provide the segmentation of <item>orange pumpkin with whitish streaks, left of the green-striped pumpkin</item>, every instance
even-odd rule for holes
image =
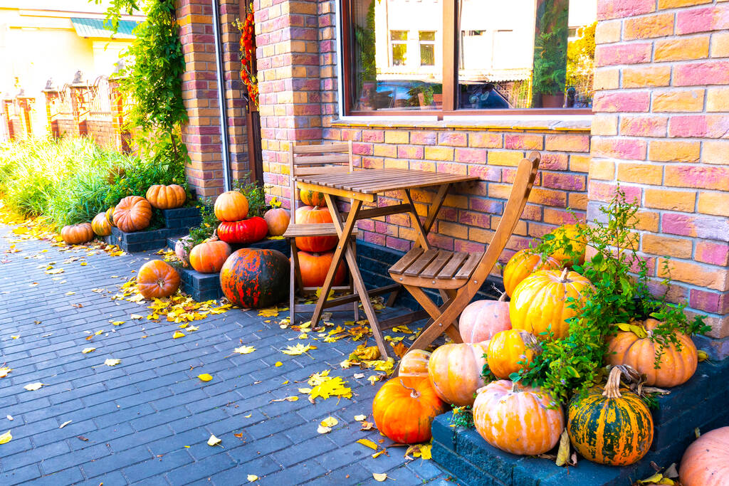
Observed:
[[[473,423],[480,436],[498,449],[518,455],[539,455],[559,441],[564,412],[539,388],[499,380],[478,391]]]

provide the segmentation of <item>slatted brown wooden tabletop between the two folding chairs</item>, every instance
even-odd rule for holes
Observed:
[[[332,187],[333,189],[343,191],[361,192],[362,194],[378,194],[381,192],[397,191],[398,189],[439,186],[456,182],[475,181],[477,179],[477,176],[413,171],[410,169],[365,169],[364,171],[299,176],[295,178],[296,181],[305,184]]]

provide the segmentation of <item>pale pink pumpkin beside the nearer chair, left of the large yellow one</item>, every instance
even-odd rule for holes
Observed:
[[[458,323],[463,342],[488,341],[497,332],[511,329],[505,298],[502,294],[499,300],[477,300],[466,306]]]

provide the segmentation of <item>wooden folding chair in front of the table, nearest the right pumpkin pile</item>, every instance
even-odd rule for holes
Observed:
[[[504,251],[524,211],[538,168],[539,152],[531,152],[528,158],[519,162],[509,201],[486,252],[469,254],[416,246],[390,267],[392,279],[402,283],[431,316],[429,326],[410,349],[425,349],[444,332],[454,342],[463,342],[456,319],[486,281]],[[438,307],[425,294],[424,288],[438,289],[444,296],[443,305]]]

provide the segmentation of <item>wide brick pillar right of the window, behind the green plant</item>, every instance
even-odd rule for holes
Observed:
[[[729,2],[712,3],[599,0],[588,219],[617,183],[636,197],[653,280],[671,256],[670,298],[728,356]]]

